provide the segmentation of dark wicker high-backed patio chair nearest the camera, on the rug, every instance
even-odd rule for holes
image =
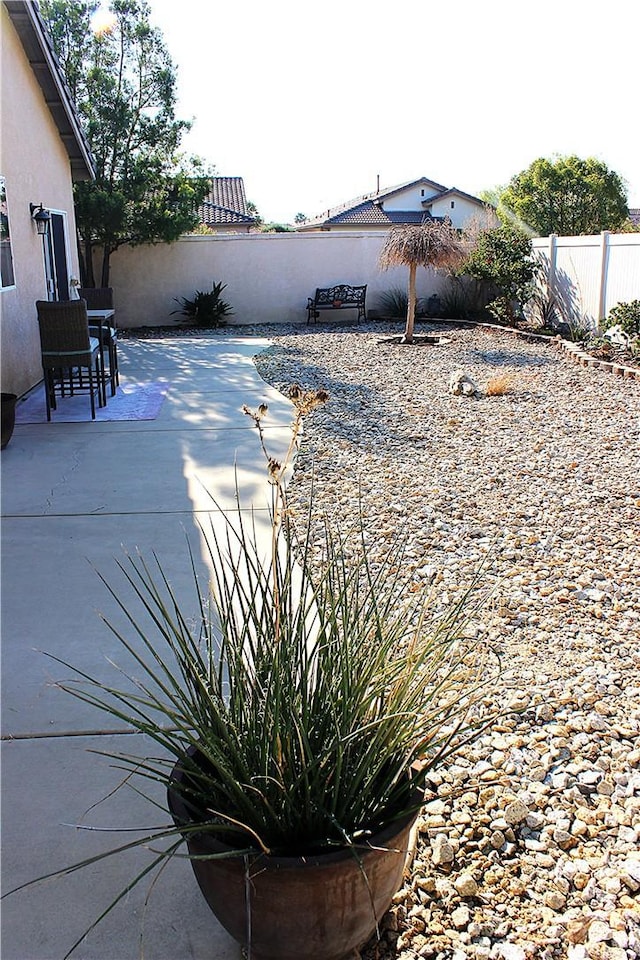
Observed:
[[[98,405],[107,402],[102,350],[96,337],[89,336],[87,304],[84,300],[37,300],[38,325],[47,420],[57,409],[56,391],[64,397],[69,392],[89,393],[91,419],[96,418]],[[86,371],[86,373],[85,373]]]

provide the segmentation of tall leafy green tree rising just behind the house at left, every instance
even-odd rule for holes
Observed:
[[[207,192],[202,161],[180,153],[190,124],[175,116],[175,68],[146,0],[112,0],[111,23],[92,29],[95,0],[42,0],[48,25],[96,162],[75,186],[83,283],[100,284],[123,244],[170,243],[197,223]]]

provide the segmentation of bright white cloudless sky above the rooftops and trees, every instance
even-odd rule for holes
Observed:
[[[427,177],[473,195],[594,156],[640,207],[630,0],[150,0],[183,148],[291,223]]]

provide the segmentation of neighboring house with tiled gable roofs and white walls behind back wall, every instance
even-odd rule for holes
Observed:
[[[365,230],[380,231],[402,224],[419,224],[425,220],[448,218],[454,227],[463,227],[474,217],[490,225],[498,220],[491,206],[457,187],[421,177],[386,190],[365,194],[327,210],[318,217],[298,224],[297,230]]]

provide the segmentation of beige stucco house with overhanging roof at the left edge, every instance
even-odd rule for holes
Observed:
[[[2,390],[21,395],[42,379],[35,302],[79,275],[73,181],[94,168],[37,5],[2,0],[0,35]]]

